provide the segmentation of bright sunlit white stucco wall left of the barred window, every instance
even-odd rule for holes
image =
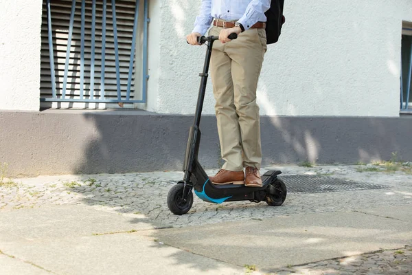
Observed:
[[[0,110],[40,107],[42,0],[0,0]]]

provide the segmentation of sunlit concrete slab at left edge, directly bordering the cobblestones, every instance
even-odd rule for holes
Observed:
[[[91,236],[93,233],[159,227],[162,227],[161,223],[150,221],[142,214],[115,214],[87,206],[49,206],[0,212],[0,242]]]

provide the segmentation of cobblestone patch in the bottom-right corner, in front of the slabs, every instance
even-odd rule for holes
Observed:
[[[321,261],[295,267],[286,267],[267,274],[412,274],[412,245],[399,250],[379,251],[343,259]]]

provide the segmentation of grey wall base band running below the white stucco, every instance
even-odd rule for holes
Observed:
[[[146,111],[0,111],[9,176],[181,170],[192,116]],[[412,159],[411,116],[261,118],[263,165]],[[216,118],[201,121],[199,159],[222,165]]]

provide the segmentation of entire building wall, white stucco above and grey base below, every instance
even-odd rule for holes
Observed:
[[[39,112],[42,0],[0,0],[0,162],[9,175],[181,169],[205,54],[185,35],[200,3],[150,0],[148,102],[136,106],[157,113]],[[411,159],[412,117],[398,116],[412,2],[287,0],[285,14],[258,88],[263,164]],[[210,84],[200,160],[218,168]]]

